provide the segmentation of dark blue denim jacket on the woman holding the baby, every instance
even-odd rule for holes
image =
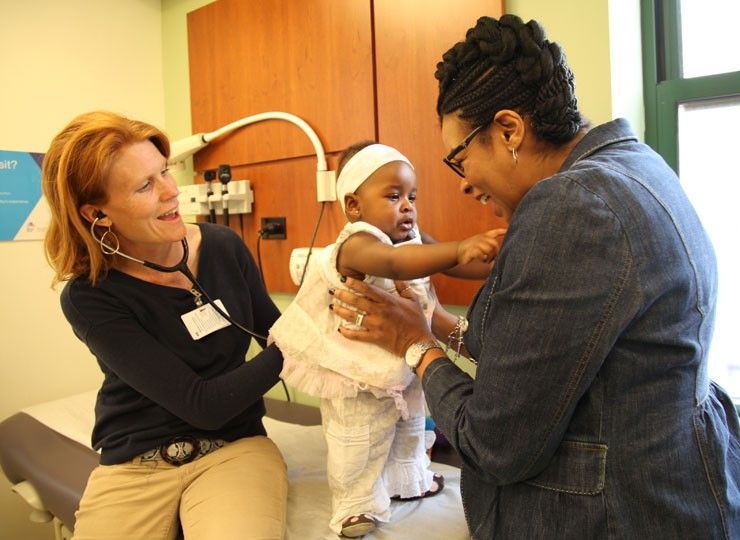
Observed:
[[[740,538],[716,289],[678,178],[624,120],[527,193],[468,314],[475,380],[446,359],[424,374],[474,539]]]

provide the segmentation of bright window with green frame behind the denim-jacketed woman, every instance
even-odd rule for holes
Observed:
[[[643,0],[645,140],[679,173],[717,254],[709,375],[740,400],[737,0]]]

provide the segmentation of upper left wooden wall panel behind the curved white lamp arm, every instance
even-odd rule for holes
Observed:
[[[371,28],[370,0],[219,0],[189,13],[193,131],[284,111],[308,122],[328,152],[373,138]],[[299,128],[265,121],[199,152],[195,168],[312,154]],[[310,178],[296,181],[315,190]]]

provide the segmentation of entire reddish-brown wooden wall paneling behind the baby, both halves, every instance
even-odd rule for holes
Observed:
[[[295,114],[316,131],[330,168],[350,144],[372,139],[414,163],[419,224],[439,240],[501,226],[462,196],[444,155],[435,112],[436,63],[480,15],[500,16],[503,1],[219,0],[188,14],[193,131],[212,131],[266,111]],[[249,179],[253,213],[232,226],[257,255],[260,218],[285,216],[287,238],[263,240],[271,292],[295,292],[288,260],[307,246],[320,211],[316,158],[305,134],[282,121],[242,128],[199,152],[197,171],[221,163]],[[202,178],[199,179],[202,181]],[[316,245],[345,223],[327,203]],[[480,282],[435,277],[445,303],[468,304]]]

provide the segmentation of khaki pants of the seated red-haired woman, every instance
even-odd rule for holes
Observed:
[[[76,514],[75,540],[283,538],[285,462],[266,437],[228,443],[176,467],[139,458],[93,470]]]

